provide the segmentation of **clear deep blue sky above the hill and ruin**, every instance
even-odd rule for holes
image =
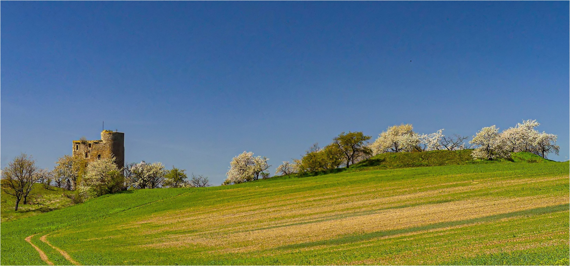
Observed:
[[[127,162],[225,178],[343,131],[538,119],[569,156],[568,1],[1,2],[1,164],[125,132]],[[272,171],[273,172],[273,171]]]

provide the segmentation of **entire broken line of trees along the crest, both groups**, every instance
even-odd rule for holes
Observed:
[[[508,159],[512,152],[531,152],[547,158],[550,153],[559,154],[556,145],[557,136],[539,132],[535,128],[540,124],[536,120],[523,120],[515,127],[507,128],[499,133],[496,126],[482,128],[466,144],[467,136],[443,135],[443,129],[431,134],[418,134],[413,131],[412,124],[401,124],[388,127],[378,134],[374,142],[371,136],[363,132],[342,132],[324,147],[313,144],[300,159],[285,161],[275,171],[275,175],[308,174],[353,164],[386,152],[425,152],[435,150],[464,150],[473,148],[471,155],[477,160]],[[253,152],[244,151],[230,162],[226,180],[222,183],[239,184],[270,177],[264,156],[254,156]],[[16,198],[15,209],[22,201],[27,204],[34,184],[42,183],[48,188],[51,185],[75,191],[73,200],[81,202],[97,196],[112,194],[124,190],[166,187],[207,187],[207,177],[192,174],[190,178],[186,170],[172,167],[166,170],[164,164],[128,163],[117,167],[115,158],[101,159],[87,163],[83,158],[64,155],[58,159],[53,170],[40,169],[35,166],[31,156],[21,154],[8,163],[1,172],[1,187],[6,194]]]

